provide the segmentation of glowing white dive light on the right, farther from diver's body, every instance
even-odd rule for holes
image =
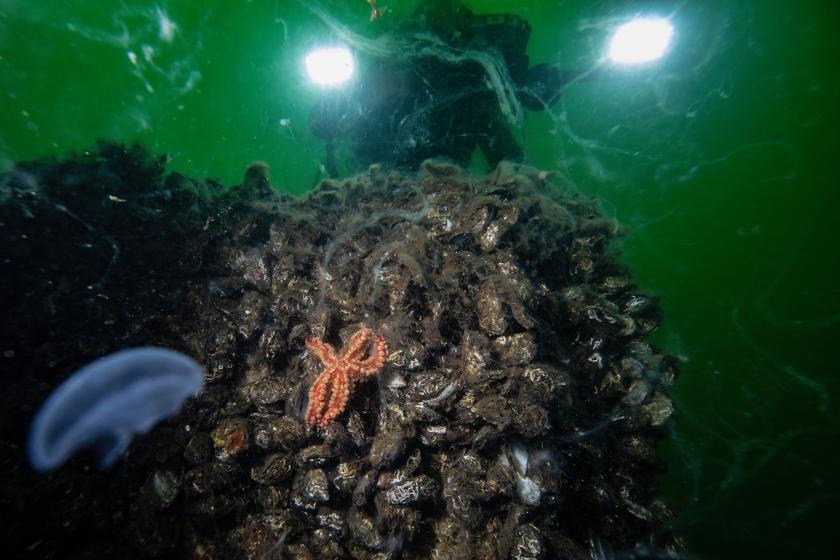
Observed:
[[[665,54],[673,33],[667,19],[632,19],[615,30],[607,55],[619,64],[650,62]]]

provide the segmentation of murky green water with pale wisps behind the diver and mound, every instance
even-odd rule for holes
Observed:
[[[363,35],[413,2],[323,4]],[[533,27],[531,63],[599,64],[614,26],[670,15],[653,65],[571,86],[529,113],[528,160],[599,196],[662,296],[660,345],[682,360],[663,493],[700,558],[828,555],[840,505],[835,160],[840,5],[478,1]],[[335,42],[306,4],[0,0],[0,168],[98,138],[168,153],[171,170],[238,182],[263,160],[307,191],[323,146],[303,57]],[[483,171],[480,158],[475,170]]]

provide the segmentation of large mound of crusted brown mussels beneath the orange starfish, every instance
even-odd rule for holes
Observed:
[[[96,165],[121,173],[109,161]],[[108,277],[90,288],[104,296],[90,299],[110,328],[96,346],[95,329],[79,327],[84,350],[166,345],[208,376],[114,471],[79,459],[54,475],[53,497],[77,506],[56,481],[85,477],[76,486],[90,500],[112,498],[110,516],[87,523],[120,529],[140,555],[677,555],[656,496],[676,370],[646,341],[655,298],[610,253],[615,223],[549,179],[427,162],[414,176],[374,167],[324,181],[296,200],[273,194],[259,165],[230,192],[158,170],[144,196],[166,192],[179,210],[138,204],[125,235],[56,210],[52,193],[67,227],[106,240],[96,262]],[[138,239],[156,220],[172,256],[144,280],[136,260],[123,270],[111,252],[149,252]],[[307,429],[322,365],[306,337],[340,348],[362,326],[387,340],[387,365],[334,422]],[[105,490],[96,477],[109,478]],[[76,506],[65,513],[83,517]]]

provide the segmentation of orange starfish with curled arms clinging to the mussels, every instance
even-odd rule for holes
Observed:
[[[370,356],[362,359],[371,340]],[[309,390],[306,425],[324,428],[344,412],[356,382],[382,369],[388,359],[388,343],[379,335],[374,338],[373,331],[364,327],[350,337],[341,354],[336,354],[330,344],[311,336],[306,337],[306,345],[324,364],[324,371]]]

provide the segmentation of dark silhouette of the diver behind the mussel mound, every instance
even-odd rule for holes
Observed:
[[[325,167],[333,177],[344,143],[352,155],[343,163],[351,171],[374,163],[413,171],[429,158],[466,167],[476,147],[491,166],[521,161],[511,130],[521,125],[521,107],[550,107],[584,74],[549,64],[530,67],[527,21],[474,14],[460,2],[423,2],[407,26],[390,33],[400,38],[387,43],[393,56],[364,60],[353,87],[324,92],[310,113],[310,129],[326,143]],[[507,105],[505,91],[515,97]]]

